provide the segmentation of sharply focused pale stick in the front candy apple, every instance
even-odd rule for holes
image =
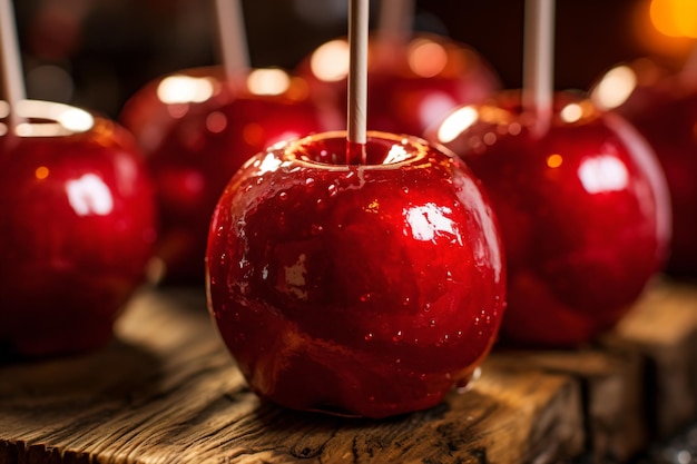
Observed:
[[[348,11],[348,134],[350,142],[366,141],[369,0],[351,0]]]

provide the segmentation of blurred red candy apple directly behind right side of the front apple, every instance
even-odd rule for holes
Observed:
[[[428,131],[471,167],[501,221],[502,342],[576,346],[610,328],[666,258],[670,205],[648,144],[617,115],[556,96],[536,131],[519,92],[464,106]]]

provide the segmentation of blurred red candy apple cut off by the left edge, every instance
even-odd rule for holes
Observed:
[[[75,107],[20,101],[0,125],[0,345],[20,356],[97,348],[144,283],[153,185],[130,134]]]

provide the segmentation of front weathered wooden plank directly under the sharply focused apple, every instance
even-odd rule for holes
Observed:
[[[579,384],[489,359],[464,394],[386,421],[252,394],[200,294],[134,298],[106,349],[0,366],[0,464],[552,463],[582,452]]]

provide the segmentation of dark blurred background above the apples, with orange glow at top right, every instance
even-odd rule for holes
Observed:
[[[422,0],[414,28],[470,45],[505,87],[517,88],[523,4]],[[243,7],[255,67],[293,68],[318,45],[346,34],[346,0],[243,0]],[[210,0],[14,0],[14,8],[29,98],[116,117],[148,80],[217,60]],[[608,68],[644,56],[679,68],[696,24],[695,0],[560,0],[556,87],[588,89]]]

